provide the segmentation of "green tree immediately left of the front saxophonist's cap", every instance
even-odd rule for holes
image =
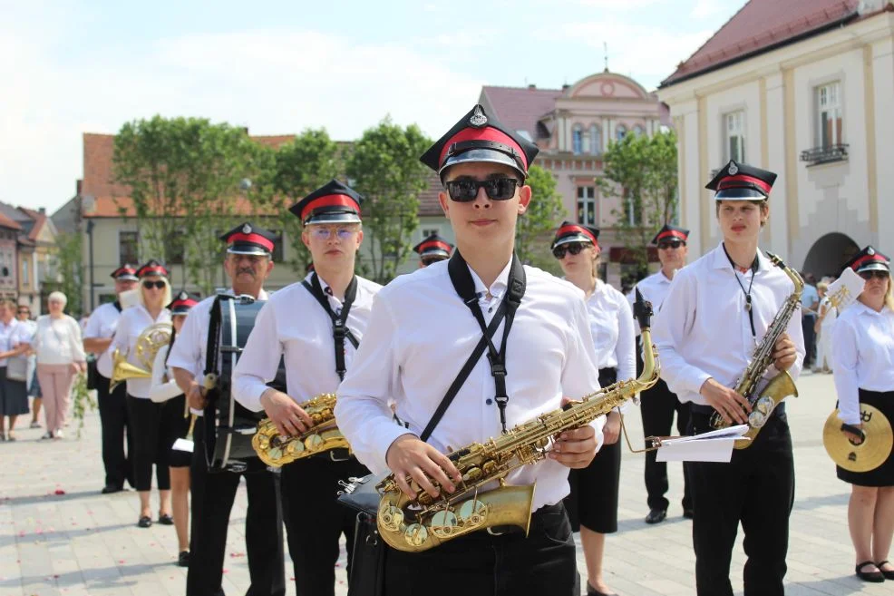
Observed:
[[[401,128],[390,117],[368,129],[345,163],[353,188],[364,195],[365,276],[387,283],[407,259],[419,225],[419,194],[428,177],[419,156],[432,142],[415,124]]]

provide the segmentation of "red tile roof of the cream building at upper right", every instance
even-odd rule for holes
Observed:
[[[791,44],[857,15],[859,0],[750,0],[661,86]]]

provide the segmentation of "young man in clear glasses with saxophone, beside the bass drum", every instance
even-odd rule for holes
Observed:
[[[354,273],[364,239],[362,200],[334,180],[292,207],[304,224],[301,240],[314,270],[277,291],[261,309],[236,366],[233,386],[239,403],[264,410],[280,435],[299,435],[314,424],[299,404],[335,393],[363,340],[381,286]],[[286,360],[286,393],[267,387],[280,357]],[[342,534],[350,568],[355,516],[336,496],[339,481],[364,474],[366,468],[344,449],[282,467],[283,517],[298,594],[332,596]]]

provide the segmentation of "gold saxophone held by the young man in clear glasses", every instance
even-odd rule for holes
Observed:
[[[314,421],[314,425],[301,435],[280,435],[277,425],[269,418],[258,423],[258,432],[251,438],[251,446],[265,464],[278,468],[296,459],[351,448],[335,425],[334,393],[320,394],[299,406]]]

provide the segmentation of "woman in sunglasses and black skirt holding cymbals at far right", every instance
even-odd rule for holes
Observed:
[[[860,405],[873,405],[894,422],[894,297],[890,259],[871,246],[845,266],[866,280],[857,302],[844,311],[832,331],[832,369],[841,421],[858,428]],[[842,430],[850,441],[860,437]],[[836,468],[850,486],[848,527],[863,581],[894,580],[888,561],[894,536],[894,455],[869,472]]]

